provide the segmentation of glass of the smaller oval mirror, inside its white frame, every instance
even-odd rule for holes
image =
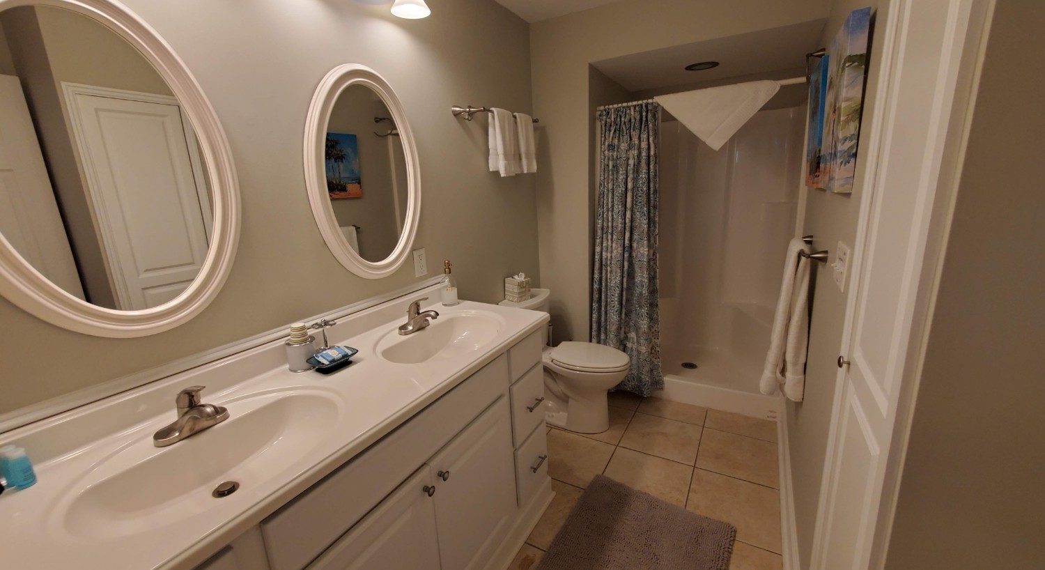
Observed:
[[[362,192],[361,187],[358,198],[351,197],[354,200],[339,200],[340,196],[329,193],[342,233],[352,249],[369,261],[380,261],[392,253],[407,214],[407,161],[402,141],[398,136],[381,136],[396,127],[388,118],[391,115],[376,92],[362,85],[351,85],[338,96],[326,129],[327,189],[331,189],[331,179],[344,181],[346,185],[353,179],[356,183],[361,178],[367,179],[367,191]],[[331,139],[338,140],[346,154],[341,172],[336,169],[339,163],[331,164]],[[356,159],[355,165],[349,164],[349,155]]]

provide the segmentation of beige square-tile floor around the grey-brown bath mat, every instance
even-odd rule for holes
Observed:
[[[609,430],[550,428],[555,499],[509,570],[537,566],[597,474],[737,527],[729,570],[780,570],[776,425],[766,419],[614,392]]]

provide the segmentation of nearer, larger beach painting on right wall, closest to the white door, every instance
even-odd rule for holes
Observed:
[[[853,191],[869,30],[870,8],[853,10],[828,48],[819,181],[833,192]]]

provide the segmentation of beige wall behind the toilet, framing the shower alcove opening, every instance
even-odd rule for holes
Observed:
[[[590,297],[588,64],[823,18],[830,0],[624,0],[533,24],[533,106],[541,287],[552,289],[556,340],[587,340]]]

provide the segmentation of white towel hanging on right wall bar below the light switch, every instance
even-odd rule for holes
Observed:
[[[776,301],[766,366],[759,382],[762,393],[776,393],[784,387],[788,400],[802,402],[806,391],[806,351],[809,346],[810,248],[799,237],[791,240],[784,259],[784,278]]]

